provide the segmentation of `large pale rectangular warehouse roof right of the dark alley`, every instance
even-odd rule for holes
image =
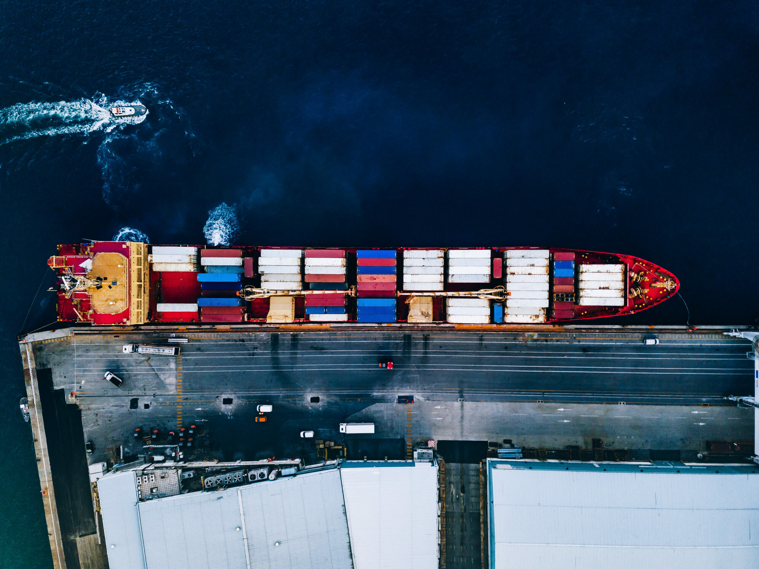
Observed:
[[[759,475],[491,462],[491,567],[759,567]]]

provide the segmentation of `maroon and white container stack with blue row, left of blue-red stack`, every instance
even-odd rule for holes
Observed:
[[[348,314],[345,313],[345,251],[307,249],[305,266],[306,282],[311,290],[335,291],[307,294],[308,319],[312,322],[346,322]]]

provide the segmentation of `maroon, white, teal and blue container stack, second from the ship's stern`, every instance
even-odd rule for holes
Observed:
[[[201,249],[200,322],[242,322],[244,306],[238,292],[242,289],[244,272],[239,249]]]

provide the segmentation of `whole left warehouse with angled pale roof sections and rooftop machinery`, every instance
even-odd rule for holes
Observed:
[[[191,492],[181,470],[151,465],[98,480],[111,569],[438,565],[433,461],[349,461],[260,481],[238,470]]]

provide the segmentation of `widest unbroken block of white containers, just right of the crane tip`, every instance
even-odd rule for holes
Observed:
[[[548,308],[548,250],[509,249],[506,261],[506,310],[503,322],[546,322]]]

